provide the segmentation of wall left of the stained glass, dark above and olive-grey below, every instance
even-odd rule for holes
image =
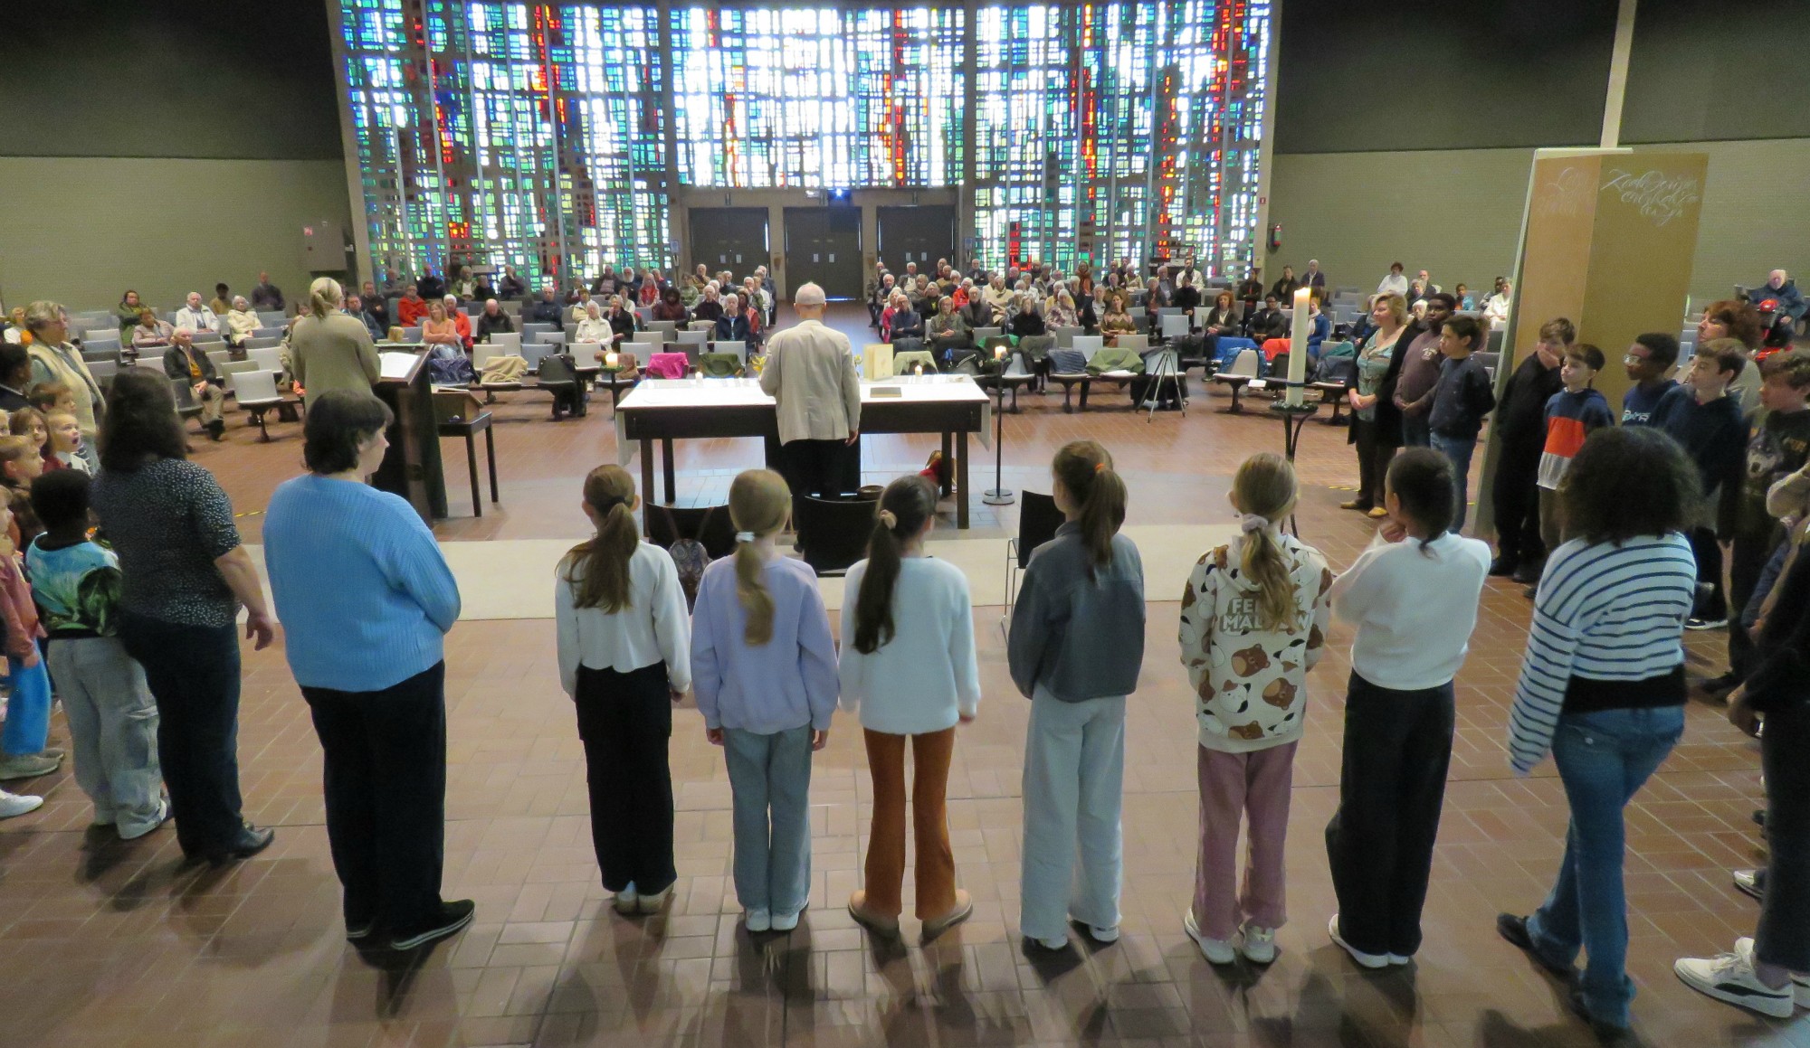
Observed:
[[[348,222],[320,0],[7,4],[0,296],[161,309],[259,269],[306,291],[302,226]]]

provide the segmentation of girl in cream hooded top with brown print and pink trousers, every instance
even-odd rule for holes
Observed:
[[[1294,511],[1294,466],[1251,455],[1227,495],[1243,535],[1209,549],[1182,591],[1182,665],[1200,723],[1200,851],[1187,938],[1215,965],[1243,954],[1276,959],[1285,918],[1281,849],[1289,833],[1294,748],[1307,710],[1307,670],[1327,643],[1332,573],[1316,549],[1281,533]],[[1238,824],[1251,855],[1238,893]]]

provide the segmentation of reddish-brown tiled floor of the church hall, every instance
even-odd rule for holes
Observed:
[[[853,325],[851,325],[853,327]],[[856,332],[860,334],[860,332]],[[1242,455],[1280,444],[1278,425],[1231,417],[1200,396],[1186,419],[1146,423],[1124,407],[1064,416],[1024,398],[1006,419],[1006,484],[1046,490],[1052,450],[1075,435],[1113,448],[1131,484],[1133,522],[1227,513]],[[1111,401],[1115,398],[1100,398]],[[581,537],[577,479],[614,455],[608,408],[550,423],[545,401],[498,408],[503,504],[445,538]],[[1122,403],[1122,401],[1120,401]],[[233,423],[201,441],[257,538],[270,490],[299,472],[293,426],[272,444]],[[921,464],[927,439],[871,444],[876,475]],[[451,493],[465,513],[456,463]],[[758,444],[681,448],[686,491],[720,497]],[[1303,435],[1301,531],[1345,566],[1368,540],[1338,511],[1354,463],[1345,430]],[[983,477],[977,473],[976,481]],[[986,477],[990,486],[990,477]],[[981,486],[979,482],[976,486]],[[1003,535],[1012,508],[979,508],[972,535]],[[527,580],[545,585],[548,580]],[[1180,578],[1151,578],[1144,681],[1129,706],[1124,938],[1026,958],[1017,938],[1019,772],[1026,703],[1012,690],[997,620],[977,625],[986,699],[961,730],[950,819],[970,923],[919,947],[860,932],[842,903],[858,885],[871,790],[851,723],[838,721],[813,782],[813,909],[789,936],[749,940],[729,873],[729,793],[695,712],[672,743],[681,885],[672,911],[624,920],[597,884],[585,819],[585,766],[554,674],[548,622],[460,623],[449,641],[449,896],[478,900],[476,923],[413,967],[364,958],[340,938],[328,862],[319,748],[281,650],[246,656],[239,755],[246,809],[277,844],[226,871],[179,866],[159,831],[136,844],[89,831],[67,773],[33,786],[42,811],[0,824],[0,1025],[5,1044],[364,1046],[364,1044],[1329,1044],[1533,1048],[1589,1043],[1555,985],[1497,940],[1493,914],[1537,905],[1558,860],[1566,808],[1551,764],[1531,779],[1502,757],[1510,687],[1528,602],[1491,582],[1459,678],[1459,737],[1417,961],[1359,972],[1325,936],[1332,911],[1321,829],[1336,804],[1348,632],[1310,678],[1289,853],[1291,923],[1269,970],[1215,970],[1182,936],[1193,876],[1193,699],[1176,663]],[[1712,640],[1692,663],[1720,670]],[[1770,1023],[1707,1001],[1671,974],[1680,954],[1729,949],[1758,907],[1732,866],[1759,838],[1754,746],[1718,708],[1694,703],[1685,743],[1629,809],[1634,1030],[1645,1044],[1810,1044],[1810,1025]],[[58,725],[56,734],[63,728]],[[14,784],[18,786],[18,784]],[[1077,943],[1081,940],[1077,938]]]

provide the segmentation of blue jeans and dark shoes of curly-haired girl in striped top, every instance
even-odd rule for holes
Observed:
[[[1622,809],[1685,732],[1683,706],[1564,714],[1553,761],[1571,804],[1558,882],[1528,920],[1542,956],[1569,965],[1589,952],[1584,1003],[1595,1019],[1627,1025],[1634,983],[1627,978],[1627,896]]]

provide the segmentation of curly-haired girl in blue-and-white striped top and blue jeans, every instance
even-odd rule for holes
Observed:
[[[1683,735],[1683,625],[1696,558],[1683,537],[1696,468],[1651,428],[1598,430],[1558,488],[1571,540],[1551,553],[1510,712],[1510,764],[1551,750],[1571,804],[1558,882],[1533,916],[1500,914],[1502,938],[1571,979],[1571,1006],[1598,1034],[1627,1026],[1622,809]]]

